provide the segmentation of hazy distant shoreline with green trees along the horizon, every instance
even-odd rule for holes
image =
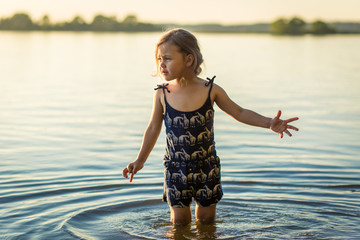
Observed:
[[[334,27],[321,20],[306,23],[299,17],[291,19],[279,18],[270,24],[152,24],[140,22],[137,16],[133,14],[127,15],[123,20],[118,20],[116,16],[98,14],[93,17],[90,23],[79,15],[70,21],[64,22],[52,22],[49,15],[44,15],[39,21],[34,21],[27,13],[15,13],[11,17],[0,18],[0,30],[9,31],[155,32],[170,27],[185,27],[192,31],[214,33],[272,33],[277,35],[360,33],[360,23],[352,24],[337,24]]]

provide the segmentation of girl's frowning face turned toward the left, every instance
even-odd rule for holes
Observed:
[[[159,46],[157,59],[159,72],[163,79],[170,81],[173,79],[181,79],[186,75],[188,64],[186,56],[179,51],[179,47],[175,44],[164,43]]]

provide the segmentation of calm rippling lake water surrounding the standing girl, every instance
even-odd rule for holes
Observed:
[[[359,239],[360,36],[198,35],[203,77],[300,132],[215,108],[225,195],[214,224],[186,227],[160,201],[164,133],[121,176],[161,82],[159,36],[0,32],[0,238]]]

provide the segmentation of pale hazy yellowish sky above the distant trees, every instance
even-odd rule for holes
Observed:
[[[306,21],[360,21],[360,0],[0,0],[0,16],[27,12],[33,20],[49,14],[53,21],[95,14],[123,19],[136,14],[140,21],[173,23],[255,23],[278,17]]]

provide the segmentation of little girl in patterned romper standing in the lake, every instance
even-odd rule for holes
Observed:
[[[165,33],[155,49],[157,75],[166,83],[155,89],[154,105],[149,125],[144,133],[137,159],[124,170],[131,179],[141,170],[153,149],[164,121],[166,127],[166,154],[164,156],[165,182],[163,200],[171,210],[171,222],[191,222],[190,204],[196,203],[195,215],[200,222],[215,219],[216,204],[222,198],[220,159],[214,142],[214,102],[239,122],[270,128],[291,136],[288,123],[298,120],[267,118],[234,103],[214,79],[201,79],[203,58],[197,39],[183,29]]]

